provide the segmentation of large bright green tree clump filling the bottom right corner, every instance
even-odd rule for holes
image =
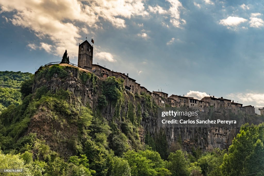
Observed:
[[[264,123],[242,125],[220,166],[223,175],[245,175],[261,172],[263,162]]]

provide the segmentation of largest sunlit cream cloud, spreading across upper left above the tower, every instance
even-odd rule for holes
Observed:
[[[116,28],[126,27],[125,20],[132,16],[146,16],[144,0],[91,0],[82,3],[81,0],[12,0],[0,1],[2,12],[12,12],[9,21],[15,26],[28,28],[40,38],[48,39],[54,47],[49,51],[62,55],[65,49],[72,57],[78,55],[78,43],[81,32],[88,33],[90,29],[100,28],[107,21]],[[81,27],[82,26],[82,27]],[[46,48],[47,49],[47,48]]]

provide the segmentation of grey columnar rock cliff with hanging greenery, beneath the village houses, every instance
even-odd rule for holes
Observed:
[[[165,135],[168,146],[177,142],[183,150],[191,153],[197,149],[202,151],[209,151],[213,148],[227,149],[239,132],[238,128],[160,128],[157,126],[157,105],[154,104],[152,98],[146,95],[134,95],[125,89],[122,92],[122,99],[116,104],[108,103],[106,107],[98,108],[98,97],[103,92],[103,79],[84,69],[68,64],[60,65],[65,67],[64,75],[54,72],[47,78],[44,72],[37,71],[33,92],[43,86],[51,92],[59,89],[68,90],[74,97],[80,99],[82,105],[88,105],[93,112],[99,111],[109,123],[115,123],[119,128],[122,121],[133,117],[136,119],[135,123],[140,124],[138,129],[142,142],[145,142],[146,134],[152,136],[154,140],[158,134],[162,134]],[[83,73],[92,76],[85,79]]]

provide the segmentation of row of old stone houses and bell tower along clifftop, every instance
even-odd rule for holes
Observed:
[[[69,60],[64,63],[69,62]],[[116,77],[124,79],[124,86],[127,91],[131,93],[142,93],[148,94],[153,97],[154,102],[161,107],[189,107],[196,111],[204,112],[206,107],[214,108],[225,108],[230,109],[232,112],[245,112],[248,114],[255,114],[254,106],[243,106],[243,104],[235,103],[229,99],[215,98],[214,96],[204,97],[201,100],[195,99],[193,97],[186,97],[181,95],[171,95],[168,96],[165,92],[150,92],[147,88],[141,86],[136,82],[135,79],[130,78],[128,74],[114,72],[113,70],[107,69],[104,66],[93,64],[93,46],[85,40],[83,43],[79,44],[78,52],[78,67],[86,69],[93,72],[98,77]],[[167,106],[166,106],[167,105]]]

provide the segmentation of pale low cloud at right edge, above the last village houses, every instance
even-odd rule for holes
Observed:
[[[243,103],[243,106],[252,105],[255,107],[264,107],[264,93],[232,93],[228,94],[228,97],[238,100]]]

